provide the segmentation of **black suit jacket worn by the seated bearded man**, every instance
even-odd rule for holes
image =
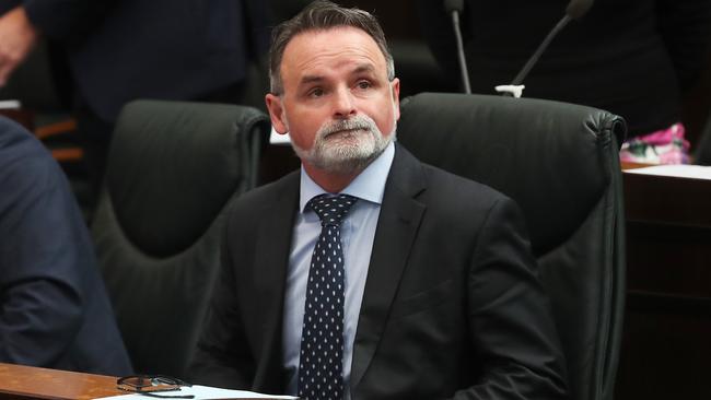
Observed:
[[[283,392],[284,278],[299,174],[231,211],[194,380]],[[421,164],[388,175],[354,339],[352,399],[559,399],[566,372],[515,203]]]

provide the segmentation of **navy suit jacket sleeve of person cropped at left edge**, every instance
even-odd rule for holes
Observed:
[[[0,117],[0,362],[131,373],[83,217],[59,165]]]

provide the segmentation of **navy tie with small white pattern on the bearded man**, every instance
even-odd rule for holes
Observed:
[[[343,250],[340,223],[358,199],[316,196],[307,207],[320,219],[320,236],[311,256],[299,360],[299,397],[343,398]]]

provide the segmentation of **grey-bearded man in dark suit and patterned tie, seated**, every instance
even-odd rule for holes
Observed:
[[[521,212],[393,142],[399,81],[375,19],[312,3],[276,28],[270,72],[271,120],[302,169],[234,204],[195,381],[310,400],[566,398]]]

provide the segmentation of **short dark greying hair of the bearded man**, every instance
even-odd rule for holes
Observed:
[[[281,60],[284,49],[291,39],[303,32],[328,30],[339,26],[352,26],[369,34],[383,52],[387,66],[387,78],[395,79],[395,62],[387,48],[385,34],[371,13],[352,8],[343,8],[326,0],[316,0],[306,5],[299,14],[277,25],[271,32],[271,48],[269,50],[270,91],[280,95],[283,92],[281,81]]]

